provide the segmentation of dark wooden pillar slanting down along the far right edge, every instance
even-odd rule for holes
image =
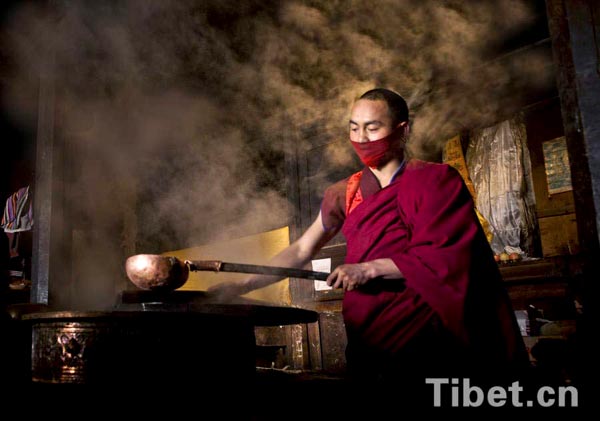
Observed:
[[[582,285],[577,285],[583,301],[577,327],[581,355],[575,363],[580,367],[579,385],[591,386],[597,381],[590,375],[597,356],[587,340],[593,332],[589,320],[595,320],[598,309],[595,291],[600,273],[600,4],[597,0],[546,0],[546,9],[584,256]],[[592,397],[592,389],[580,392],[584,400]]]

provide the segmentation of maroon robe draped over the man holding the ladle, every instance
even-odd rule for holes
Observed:
[[[390,258],[404,275],[344,294],[349,347],[356,342],[371,356],[393,359],[423,332],[438,335],[441,328],[450,339],[443,343],[478,366],[525,365],[514,312],[459,173],[446,164],[411,160],[382,189],[365,168],[363,201],[349,215],[347,180],[325,192],[325,229],[341,226],[346,263]]]

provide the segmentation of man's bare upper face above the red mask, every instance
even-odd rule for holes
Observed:
[[[350,113],[350,140],[363,143],[381,139],[394,130],[392,124],[385,101],[359,99]]]

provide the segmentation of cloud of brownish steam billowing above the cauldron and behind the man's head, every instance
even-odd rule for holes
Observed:
[[[367,89],[408,100],[412,151],[428,157],[515,87],[545,83],[545,57],[482,66],[531,23],[529,3],[29,4],[5,24],[3,102],[35,114],[19,98],[38,75],[55,80],[75,229],[93,227],[109,254],[193,246],[288,224],[286,154],[312,133],[342,141],[325,165],[348,165],[348,111]]]

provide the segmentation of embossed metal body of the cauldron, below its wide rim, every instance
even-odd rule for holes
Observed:
[[[31,324],[38,383],[164,388],[201,381],[243,386],[255,373],[254,325],[200,312],[57,311]]]

